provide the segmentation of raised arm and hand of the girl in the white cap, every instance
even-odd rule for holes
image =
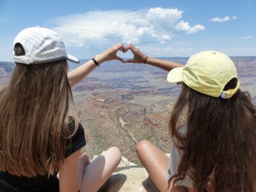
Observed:
[[[119,60],[124,62],[122,58],[116,56],[116,52],[118,52],[119,50],[124,51],[125,50],[124,45],[122,44],[113,45],[106,51],[95,56],[95,60],[99,64],[105,61],[111,61],[111,60]],[[96,68],[95,63],[92,60],[89,60],[83,65],[81,65],[80,67],[77,67],[71,72],[68,72],[68,81],[70,83],[71,88],[73,88],[77,83],[82,81],[84,77],[88,76],[88,74],[90,74],[90,72],[92,72],[93,69],[95,68]]]

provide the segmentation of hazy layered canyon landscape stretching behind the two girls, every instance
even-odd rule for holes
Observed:
[[[163,58],[186,63],[188,58]],[[232,57],[240,88],[256,103],[256,57]],[[86,60],[83,60],[82,65]],[[79,65],[69,63],[69,70]],[[8,84],[15,65],[0,62],[0,86]],[[79,120],[86,132],[84,147],[91,157],[111,146],[140,164],[135,145],[150,140],[170,151],[168,122],[180,87],[166,81],[168,72],[145,64],[109,61],[97,67],[72,90]]]

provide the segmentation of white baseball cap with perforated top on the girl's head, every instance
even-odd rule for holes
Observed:
[[[15,63],[30,65],[64,59],[80,63],[75,56],[67,54],[60,35],[51,29],[40,27],[24,29],[13,40],[13,47],[18,43],[24,48],[25,55],[16,56],[13,51]]]

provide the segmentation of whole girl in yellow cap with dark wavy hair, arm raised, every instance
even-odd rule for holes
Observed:
[[[170,115],[170,159],[149,141],[136,152],[160,191],[256,191],[256,107],[239,90],[236,67],[221,52],[204,51],[186,65],[147,57],[133,45],[127,63],[170,71],[182,84]],[[182,123],[182,116],[186,122]]]

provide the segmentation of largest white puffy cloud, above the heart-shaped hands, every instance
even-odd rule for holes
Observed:
[[[69,45],[164,44],[176,33],[205,30],[200,24],[190,26],[189,22],[181,20],[182,13],[177,8],[92,11],[56,17],[46,24],[58,31]]]

